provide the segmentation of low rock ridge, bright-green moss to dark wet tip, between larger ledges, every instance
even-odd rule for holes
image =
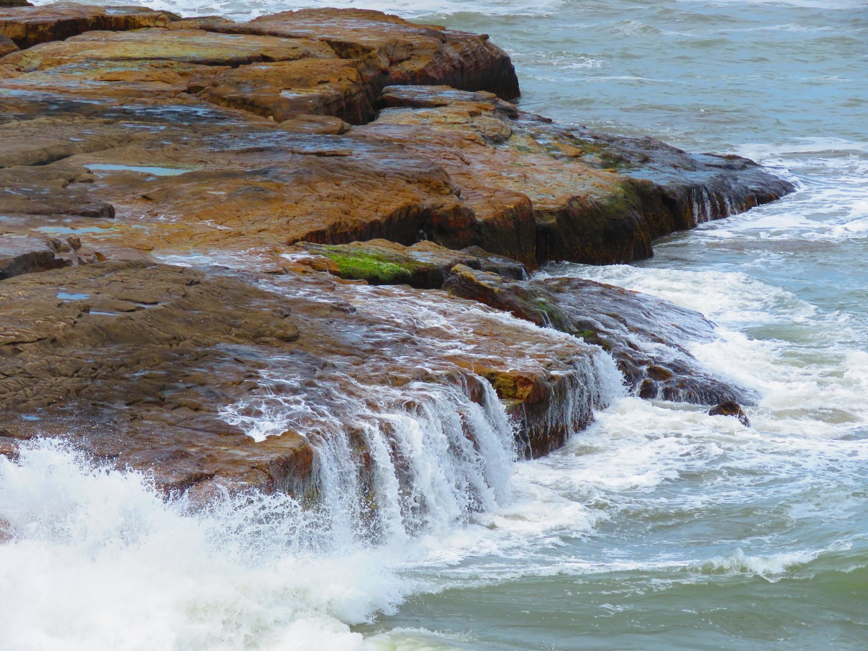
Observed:
[[[694,404],[750,404],[754,398],[752,391],[701,368],[685,345],[716,339],[713,325],[700,313],[665,300],[592,280],[527,279],[515,261],[479,249],[450,251],[431,242],[412,247],[386,240],[302,243],[295,251],[287,256],[290,260],[317,271],[372,285],[443,287],[599,345],[615,358],[629,389],[641,398]]]

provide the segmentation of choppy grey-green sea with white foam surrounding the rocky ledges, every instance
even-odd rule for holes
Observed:
[[[0,648],[868,648],[865,3],[152,3],[335,5],[488,33],[523,109],[750,156],[797,185],[652,260],[544,271],[704,312],[720,339],[692,352],[759,392],[752,427],[613,392],[563,450],[498,475],[483,512],[378,545],[323,544],[333,523],[286,497],[191,514],[147,477],[36,444],[0,460]]]

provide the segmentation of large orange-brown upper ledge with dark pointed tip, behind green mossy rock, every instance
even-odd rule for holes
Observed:
[[[648,257],[655,237],[788,190],[750,161],[522,113],[484,91],[516,94],[504,57],[481,36],[357,10],[36,45],[0,62],[0,158],[32,188],[0,209],[115,210],[104,234],[148,251],[379,237],[534,268]]]

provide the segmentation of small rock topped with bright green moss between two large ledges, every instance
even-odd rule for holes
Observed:
[[[307,255],[306,255],[307,254]],[[411,247],[389,240],[368,240],[344,245],[301,242],[287,254],[293,261],[341,278],[365,280],[372,285],[410,285],[439,289],[456,265],[499,273],[507,278],[527,276],[524,266],[479,247],[453,251],[434,242]]]

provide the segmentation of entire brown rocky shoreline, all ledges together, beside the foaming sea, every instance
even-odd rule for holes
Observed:
[[[529,273],[792,187],[518,95],[487,36],[376,11],[0,8],[0,454],[60,437],[169,493],[315,500],[323,445],[371,492],[365,428],[437,391],[471,444],[494,399],[519,456],[556,449],[604,351],[642,398],[749,404],[683,347],[701,315]]]

